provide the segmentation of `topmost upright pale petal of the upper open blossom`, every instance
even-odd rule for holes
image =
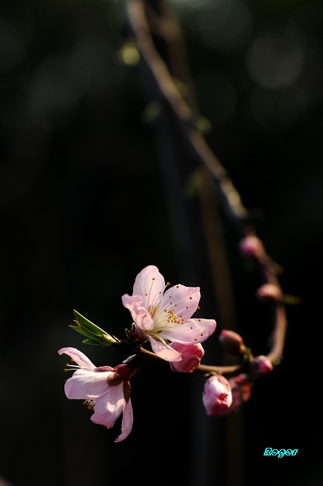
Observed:
[[[165,280],[159,274],[155,265],[148,265],[139,272],[134,280],[134,291],[132,295],[143,296],[143,305],[149,309],[150,305],[157,305],[161,301],[164,292]]]

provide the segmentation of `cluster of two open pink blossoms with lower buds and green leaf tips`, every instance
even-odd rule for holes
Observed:
[[[134,323],[132,332],[126,331],[138,353],[141,344],[149,342],[152,351],[161,360],[169,362],[173,371],[192,373],[200,367],[204,355],[201,342],[216,329],[214,319],[192,318],[199,309],[199,287],[175,285],[168,288],[157,267],[144,268],[134,281],[132,295],[122,296],[123,305],[130,310]],[[86,344],[103,344],[111,347],[117,343],[105,331],[76,312],[78,333],[87,337]],[[234,355],[243,355],[246,348],[238,334],[222,330],[220,342],[223,349]],[[121,442],[132,430],[133,412],[130,401],[130,379],[137,373],[140,356],[132,355],[116,367],[96,367],[78,349],[67,347],[58,351],[67,354],[76,364],[67,364],[73,376],[65,383],[68,399],[82,399],[89,410],[91,421],[107,428],[114,426],[123,414],[121,434],[115,442]],[[151,353],[150,353],[151,354]],[[157,358],[158,359],[158,358]],[[209,377],[204,386],[202,400],[208,415],[222,416],[236,410],[251,394],[251,378],[259,378],[272,369],[265,356],[257,356],[250,364],[250,375],[239,374],[227,380],[220,374]]]

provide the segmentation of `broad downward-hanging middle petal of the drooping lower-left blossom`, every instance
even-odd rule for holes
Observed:
[[[91,421],[110,428],[121,415],[125,399],[123,398],[123,383],[108,387],[107,392],[96,400]]]

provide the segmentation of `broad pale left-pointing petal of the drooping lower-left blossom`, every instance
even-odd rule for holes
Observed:
[[[97,399],[107,393],[107,377],[111,371],[91,371],[78,369],[65,383],[65,394],[68,399]]]

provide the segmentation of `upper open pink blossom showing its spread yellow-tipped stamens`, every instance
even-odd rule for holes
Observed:
[[[150,341],[160,358],[174,362],[182,358],[169,341],[203,342],[214,332],[216,321],[191,319],[200,301],[200,287],[175,285],[164,293],[166,286],[157,267],[149,265],[137,275],[132,296],[123,295],[122,302],[137,324],[139,340]]]

